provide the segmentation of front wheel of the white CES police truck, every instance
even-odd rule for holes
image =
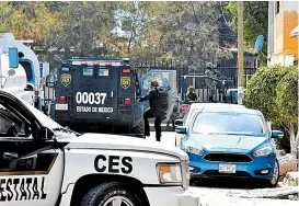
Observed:
[[[128,188],[119,182],[103,183],[91,188],[80,206],[107,206],[115,202],[122,206],[143,206],[140,198]]]

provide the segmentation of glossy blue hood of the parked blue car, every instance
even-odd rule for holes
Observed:
[[[246,150],[250,151],[260,146],[267,138],[264,136],[242,135],[192,135],[189,144],[204,147],[208,151]]]

